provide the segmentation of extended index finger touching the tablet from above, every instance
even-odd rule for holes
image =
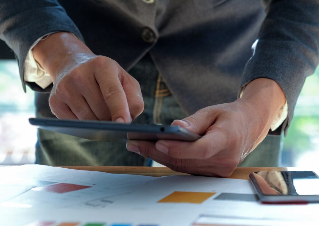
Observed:
[[[126,94],[119,79],[119,70],[109,71],[108,69],[100,68],[95,73],[96,81],[110,110],[112,121],[131,122]]]

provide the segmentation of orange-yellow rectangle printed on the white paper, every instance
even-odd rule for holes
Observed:
[[[158,202],[174,202],[174,203],[197,203],[200,204],[206,199],[215,195],[216,192],[193,192],[193,191],[174,191]]]

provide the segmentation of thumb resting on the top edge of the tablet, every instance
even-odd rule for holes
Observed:
[[[211,106],[205,107],[182,120],[174,120],[172,125],[181,126],[190,132],[202,135],[216,120],[218,116],[216,110]]]

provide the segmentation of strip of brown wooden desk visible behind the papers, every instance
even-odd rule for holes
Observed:
[[[59,166],[70,169],[100,171],[114,174],[135,174],[146,176],[169,176],[169,175],[189,175],[185,173],[175,172],[167,167],[122,167],[122,166]],[[249,180],[249,173],[257,171],[293,171],[293,170],[309,170],[300,168],[276,168],[276,167],[252,167],[237,168],[229,178]],[[319,170],[313,170],[319,172]]]

